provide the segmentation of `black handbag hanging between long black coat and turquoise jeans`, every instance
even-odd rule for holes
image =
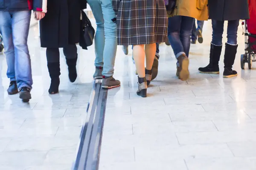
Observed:
[[[80,40],[79,45],[87,50],[87,47],[93,44],[93,38],[95,30],[83,10],[81,10],[82,19],[81,19],[81,28],[80,28]]]

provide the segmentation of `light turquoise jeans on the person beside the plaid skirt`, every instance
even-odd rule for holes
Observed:
[[[95,66],[103,67],[102,75],[111,77],[114,74],[116,59],[116,23],[112,0],[87,0],[96,20],[95,34]],[[104,63],[104,64],[103,64]]]

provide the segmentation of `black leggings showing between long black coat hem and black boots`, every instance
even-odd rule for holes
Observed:
[[[68,59],[75,59],[77,57],[76,45],[68,45],[63,48],[64,56]],[[46,49],[47,62],[60,62],[60,51],[58,48]]]

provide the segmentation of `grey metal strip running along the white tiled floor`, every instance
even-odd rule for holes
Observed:
[[[95,80],[72,170],[98,170],[108,91]]]

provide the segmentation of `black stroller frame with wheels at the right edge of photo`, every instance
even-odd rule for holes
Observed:
[[[256,39],[256,34],[250,34],[247,30],[247,21],[244,20],[242,22],[242,25],[244,26],[244,42],[245,42],[245,48],[244,54],[241,54],[241,69],[245,68],[245,63],[248,63],[248,68],[252,69],[253,65],[253,57],[256,55],[256,50],[254,50],[252,47],[253,45],[256,45],[256,40],[254,42],[249,41],[249,37],[253,37]]]

